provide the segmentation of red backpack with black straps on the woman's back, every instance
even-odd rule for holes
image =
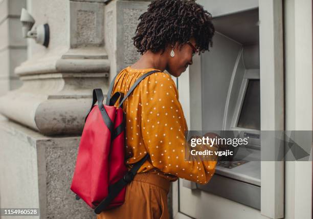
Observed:
[[[126,185],[133,180],[140,166],[148,158],[145,155],[127,171],[125,165],[125,121],[123,102],[141,80],[148,75],[160,72],[150,71],[139,77],[130,87],[126,96],[116,92],[114,82],[109,86],[106,103],[103,105],[101,89],[93,90],[93,103],[85,118],[71,190],[76,199],[82,199],[95,213],[118,207],[124,203]],[[119,107],[114,104],[120,99]],[[94,105],[98,102],[98,105]]]

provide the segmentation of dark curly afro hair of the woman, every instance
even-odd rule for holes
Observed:
[[[195,0],[154,0],[139,17],[133,45],[140,54],[147,50],[164,52],[168,44],[182,45],[194,37],[200,54],[212,47],[215,29],[211,19]]]

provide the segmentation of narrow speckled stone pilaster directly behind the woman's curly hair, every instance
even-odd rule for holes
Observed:
[[[122,69],[139,59],[140,54],[133,46],[139,16],[144,13],[149,1],[107,1],[105,7],[105,45],[108,51],[110,79]]]

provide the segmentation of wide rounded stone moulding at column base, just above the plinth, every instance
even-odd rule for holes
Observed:
[[[105,95],[108,87],[102,73],[80,74],[25,76],[23,86],[0,97],[0,112],[44,135],[80,135],[93,89]]]

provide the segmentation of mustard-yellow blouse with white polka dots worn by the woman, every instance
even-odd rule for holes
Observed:
[[[113,93],[126,95],[132,84],[154,69],[123,69]],[[115,106],[118,106],[118,102]],[[126,164],[150,157],[138,172],[151,171],[175,181],[183,178],[200,184],[213,176],[216,161],[185,161],[185,131],[188,130],[178,91],[171,76],[157,72],[144,78],[123,103],[126,112]]]

